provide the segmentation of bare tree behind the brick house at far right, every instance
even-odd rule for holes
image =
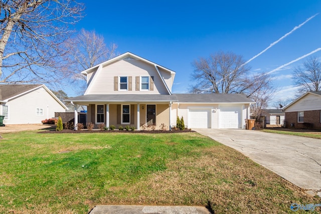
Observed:
[[[303,67],[296,67],[292,73],[295,86],[299,86],[299,94],[308,91],[321,91],[321,63],[316,57],[310,57]]]

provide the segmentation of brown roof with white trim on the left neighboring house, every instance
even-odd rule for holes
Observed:
[[[44,88],[64,109],[68,109],[49,88],[41,84],[0,84],[0,102],[7,103],[11,99],[39,88]]]

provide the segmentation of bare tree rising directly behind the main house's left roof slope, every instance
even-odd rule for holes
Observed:
[[[68,64],[66,68],[72,83],[80,88],[80,92],[86,88],[86,78],[81,71],[118,55],[116,44],[112,43],[107,47],[103,36],[97,35],[95,31],[84,29],[76,37],[66,41],[65,46],[70,50],[70,55],[65,55],[65,61]]]

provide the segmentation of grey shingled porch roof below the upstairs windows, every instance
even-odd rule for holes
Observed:
[[[167,94],[90,94],[66,99],[67,102],[177,102],[176,96]]]

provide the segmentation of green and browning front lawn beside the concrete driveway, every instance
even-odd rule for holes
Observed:
[[[0,213],[88,213],[97,204],[210,204],[215,213],[288,213],[294,202],[321,203],[198,133],[2,136]]]

